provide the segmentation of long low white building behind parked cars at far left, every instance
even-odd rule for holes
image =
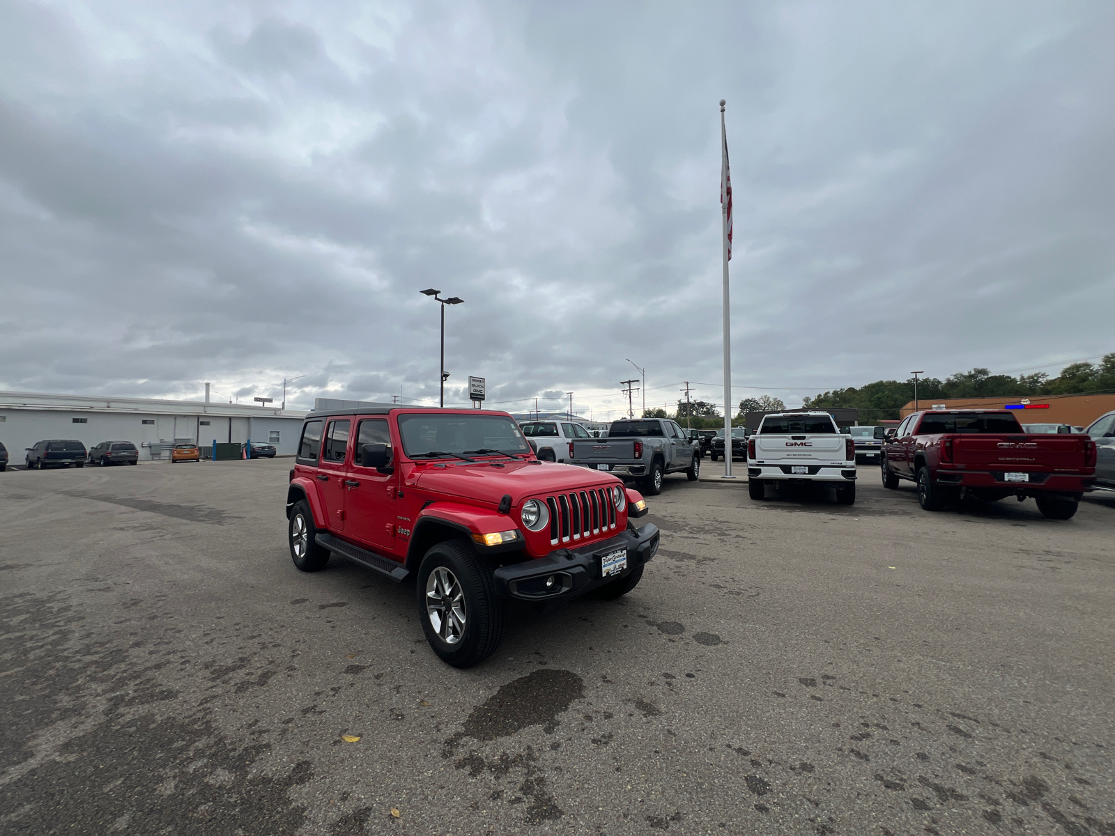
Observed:
[[[306,412],[246,404],[156,398],[104,398],[79,395],[0,391],[0,443],[11,464],[22,464],[25,448],[55,438],[93,447],[132,441],[139,458],[167,458],[166,445],[202,446],[251,439],[293,455]]]

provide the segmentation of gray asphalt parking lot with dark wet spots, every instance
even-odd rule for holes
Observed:
[[[289,466],[0,474],[0,832],[1115,834],[1115,499],[671,476],[633,593],[458,671],[293,567]]]

